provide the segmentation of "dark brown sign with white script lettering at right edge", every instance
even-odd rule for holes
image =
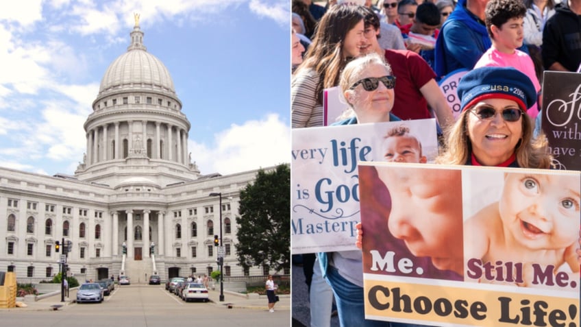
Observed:
[[[543,132],[558,169],[581,170],[581,73],[545,71]]]

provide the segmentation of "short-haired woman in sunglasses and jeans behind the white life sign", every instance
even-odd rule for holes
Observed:
[[[352,60],[341,73],[339,87],[351,110],[334,125],[399,121],[391,114],[395,94],[391,67],[377,53]],[[361,251],[319,253],[321,271],[331,285],[342,327],[412,327],[414,324],[364,319]]]

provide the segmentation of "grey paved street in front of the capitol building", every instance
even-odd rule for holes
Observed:
[[[71,292],[71,295],[72,292]],[[69,304],[58,311],[0,311],[2,326],[290,326],[290,311],[184,302],[164,286],[117,287],[101,304]]]

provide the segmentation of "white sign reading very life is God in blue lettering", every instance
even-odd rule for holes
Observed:
[[[386,137],[394,128],[409,132]],[[435,119],[300,128],[292,136],[293,254],[356,250],[359,161],[399,160],[386,158],[393,143],[423,161],[438,153]]]

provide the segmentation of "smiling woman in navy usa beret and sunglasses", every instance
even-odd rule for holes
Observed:
[[[551,167],[544,135],[533,135],[524,114],[536,101],[527,75],[509,67],[473,69],[460,80],[462,113],[447,134],[438,162],[449,165]]]

